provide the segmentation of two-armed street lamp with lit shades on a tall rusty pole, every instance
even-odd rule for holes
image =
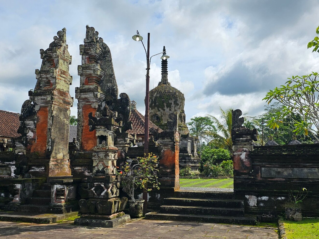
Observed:
[[[146,53],[146,92],[145,92],[145,125],[144,125],[144,155],[145,157],[148,156],[148,134],[149,134],[149,108],[150,108],[150,65],[151,65],[151,59],[153,56],[163,54],[161,57],[162,60],[165,60],[169,58],[165,54],[164,51],[155,54],[150,57],[150,33],[147,33],[147,51],[145,49],[144,43],[143,43],[143,37],[139,35],[139,32],[136,31],[136,35],[132,36],[132,39],[137,42],[142,42],[145,53]],[[145,188],[147,188],[147,183],[145,185]],[[143,189],[143,199],[144,199],[144,204],[143,204],[143,214],[147,212],[147,190]]]

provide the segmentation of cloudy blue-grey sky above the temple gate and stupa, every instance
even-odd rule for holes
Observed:
[[[168,79],[185,95],[187,120],[218,117],[219,107],[260,115],[269,89],[292,75],[318,72],[319,54],[307,49],[318,16],[317,0],[0,0],[0,109],[20,112],[41,67],[39,50],[63,27],[75,97],[79,45],[89,25],[111,50],[119,93],[143,114],[146,57],[131,38],[136,30],[145,44],[151,34],[151,55],[166,46]],[[152,58],[151,89],[160,81],[159,57]],[[76,106],[75,99],[72,115]]]

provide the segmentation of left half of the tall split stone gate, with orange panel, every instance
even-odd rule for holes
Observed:
[[[66,44],[66,29],[58,31],[48,49],[41,49],[40,54],[41,69],[35,70],[37,83],[21,108],[19,133],[22,137],[16,140],[15,149],[20,155],[38,158],[37,166],[29,166],[28,174],[33,177],[70,176],[69,117],[73,98],[69,94],[72,83],[69,65],[72,57]],[[49,167],[46,166],[48,159]]]

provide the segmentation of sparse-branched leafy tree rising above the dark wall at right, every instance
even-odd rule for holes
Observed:
[[[288,78],[285,85],[270,90],[263,100],[268,104],[277,100],[283,107],[282,111],[269,121],[270,127],[279,128],[279,123],[287,117],[294,123],[293,130],[297,135],[308,135],[311,133],[316,140],[319,132],[319,81],[318,73],[312,72],[309,75],[292,76]],[[294,118],[292,115],[299,115]]]

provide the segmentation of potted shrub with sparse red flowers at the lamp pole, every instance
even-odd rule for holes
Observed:
[[[117,171],[121,175],[121,182],[123,191],[135,202],[134,190],[137,188],[146,189],[159,189],[159,182],[157,181],[157,172],[159,171],[156,166],[158,159],[155,154],[149,153],[148,157],[126,162],[123,170]],[[146,188],[146,184],[147,188]]]

